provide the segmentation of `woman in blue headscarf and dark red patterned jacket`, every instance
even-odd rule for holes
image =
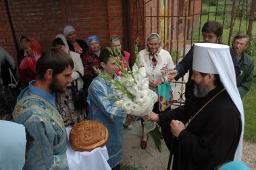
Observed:
[[[97,36],[92,35],[87,38],[87,45],[89,49],[82,56],[82,64],[84,65],[84,87],[87,89],[93,78],[97,76],[93,67],[99,67],[99,55],[101,53],[101,46]]]

